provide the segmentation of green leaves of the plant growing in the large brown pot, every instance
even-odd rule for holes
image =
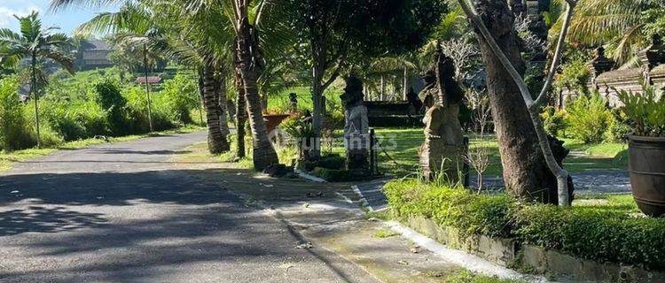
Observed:
[[[634,134],[665,136],[665,99],[653,86],[643,86],[642,94],[616,90],[622,112],[630,119]]]

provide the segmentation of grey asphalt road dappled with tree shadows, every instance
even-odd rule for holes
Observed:
[[[205,134],[61,150],[0,172],[0,282],[373,282],[168,160]]]

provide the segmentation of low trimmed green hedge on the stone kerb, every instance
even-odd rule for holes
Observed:
[[[507,195],[475,195],[416,180],[393,181],[385,188],[398,218],[422,216],[465,235],[513,238],[586,259],[665,270],[665,218],[522,203]]]

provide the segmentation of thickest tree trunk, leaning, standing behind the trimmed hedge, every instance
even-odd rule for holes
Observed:
[[[524,73],[520,39],[514,31],[512,12],[505,0],[481,0],[476,9],[512,65],[518,72]],[[481,42],[482,59],[487,70],[489,103],[497,132],[505,186],[516,196],[556,204],[557,180],[539,148],[536,129],[520,89],[480,32],[476,30],[476,34]]]

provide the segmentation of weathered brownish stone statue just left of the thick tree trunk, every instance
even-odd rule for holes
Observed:
[[[465,157],[464,134],[459,122],[459,103],[464,92],[455,77],[452,59],[437,50],[434,65],[425,75],[425,97],[427,108],[425,119],[425,142],[420,148],[420,166],[426,178],[433,179],[439,173],[447,180],[457,181]]]

